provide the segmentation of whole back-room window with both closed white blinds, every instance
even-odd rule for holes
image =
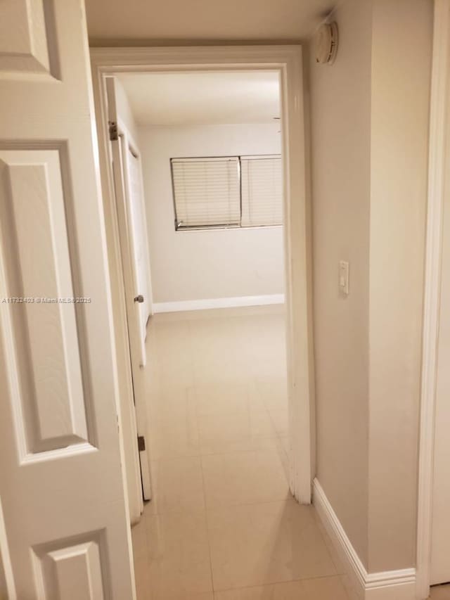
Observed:
[[[281,156],[172,158],[175,229],[283,222]]]

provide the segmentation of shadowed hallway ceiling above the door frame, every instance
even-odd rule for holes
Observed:
[[[86,0],[92,45],[300,40],[334,0]]]

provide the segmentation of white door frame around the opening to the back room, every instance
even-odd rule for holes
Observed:
[[[315,468],[314,356],[311,307],[311,205],[303,91],[302,46],[179,46],[94,48],[97,129],[103,203],[110,236],[110,268],[117,273],[113,177],[108,160],[105,77],[120,72],[274,70],[280,76],[283,181],[285,310],[290,412],[290,490],[311,503]],[[111,239],[112,237],[112,239]],[[122,291],[123,292],[123,291]],[[117,302],[117,298],[113,298]],[[121,316],[122,320],[124,314]],[[121,364],[119,362],[119,368]]]

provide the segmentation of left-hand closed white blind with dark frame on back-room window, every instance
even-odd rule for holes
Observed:
[[[176,229],[240,224],[239,159],[172,158]]]

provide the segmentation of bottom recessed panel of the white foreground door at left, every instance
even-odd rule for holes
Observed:
[[[77,541],[44,544],[34,549],[39,600],[103,600],[102,532]]]

